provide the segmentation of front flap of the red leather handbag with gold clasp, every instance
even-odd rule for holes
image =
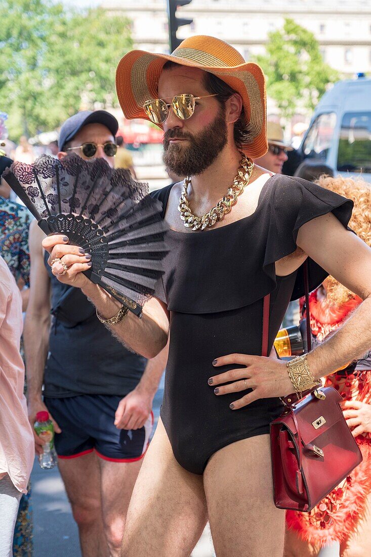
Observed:
[[[343,399],[338,391],[333,387],[325,387],[320,390],[326,395],[325,400],[320,400],[314,394],[310,394],[293,409],[302,441],[306,445],[313,443],[339,420],[344,421],[343,412],[339,406]]]

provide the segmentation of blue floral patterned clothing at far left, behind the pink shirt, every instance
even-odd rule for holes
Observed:
[[[30,254],[28,253],[28,228],[31,222],[26,207],[0,196],[0,255],[22,287],[30,285]],[[14,530],[13,556],[32,557],[31,485],[27,495],[22,495]]]

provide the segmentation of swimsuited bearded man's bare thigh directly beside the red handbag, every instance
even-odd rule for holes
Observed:
[[[285,511],[273,502],[268,435],[217,451],[204,472],[204,490],[217,557],[282,557]]]

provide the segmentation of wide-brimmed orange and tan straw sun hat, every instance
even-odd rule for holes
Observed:
[[[208,71],[237,91],[245,107],[249,136],[241,150],[252,159],[267,152],[266,90],[261,67],[246,63],[235,48],[214,37],[186,38],[170,55],[133,50],[121,58],[116,70],[116,90],[125,118],[149,120],[143,105],[158,99],[158,81],[167,61]]]

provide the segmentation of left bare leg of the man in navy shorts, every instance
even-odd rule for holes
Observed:
[[[77,458],[59,458],[72,513],[79,528],[83,557],[108,557],[100,499],[100,471],[94,452]]]

